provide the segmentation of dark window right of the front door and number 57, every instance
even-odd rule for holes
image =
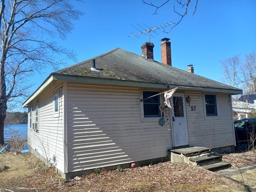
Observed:
[[[217,100],[214,94],[204,94],[206,116],[218,116]]]

